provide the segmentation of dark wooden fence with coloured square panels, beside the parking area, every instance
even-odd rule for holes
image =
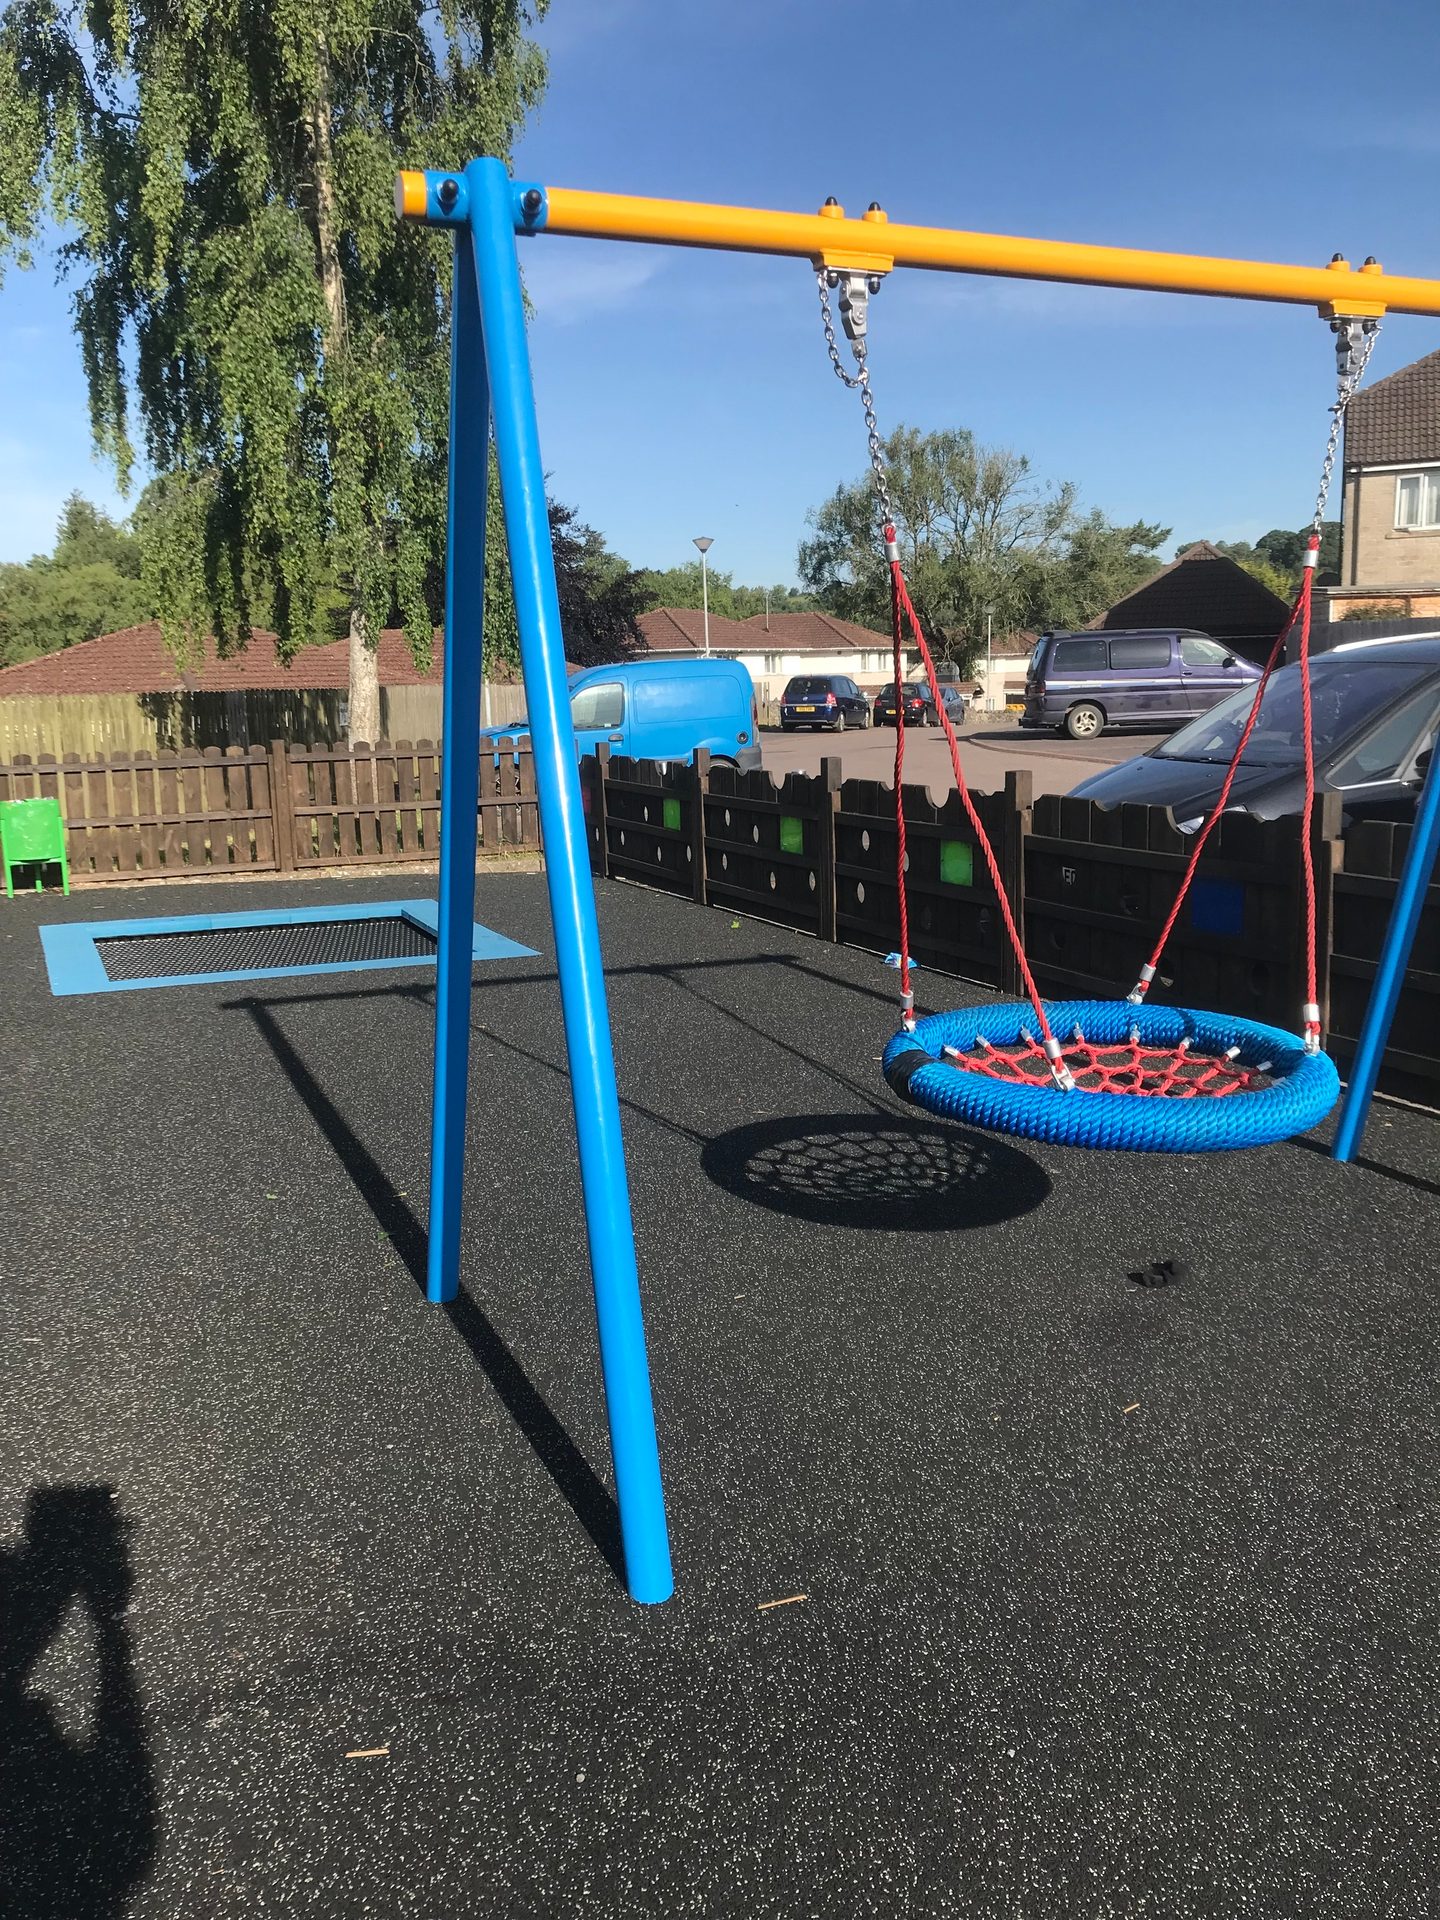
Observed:
[[[895,795],[872,780],[735,774],[726,766],[660,768],[584,762],[591,868],[712,906],[762,914],[820,939],[889,952],[899,947]],[[1162,806],[1102,810],[1091,801],[1031,795],[1012,772],[1002,793],[975,797],[1006,895],[1050,996],[1127,991],[1162,925],[1188,841]],[[1016,966],[983,854],[958,795],[935,804],[904,795],[910,950],[922,968],[1020,995]],[[1409,828],[1354,826],[1340,835],[1338,795],[1315,812],[1319,1000],[1329,1048],[1344,1068],[1365,1016]],[[1246,1014],[1294,1029],[1306,1000],[1300,822],[1227,814],[1165,950],[1152,998]],[[1169,983],[1169,985],[1165,985]],[[920,996],[943,1004],[948,989]],[[1380,1085],[1440,1106],[1440,887],[1415,941]]]

